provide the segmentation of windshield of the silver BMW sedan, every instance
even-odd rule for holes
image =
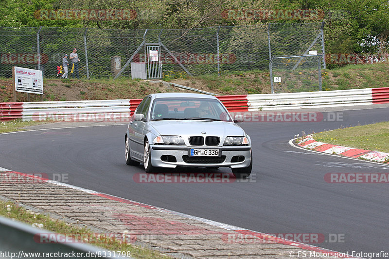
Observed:
[[[215,99],[157,98],[151,107],[150,120],[231,121],[226,108]]]

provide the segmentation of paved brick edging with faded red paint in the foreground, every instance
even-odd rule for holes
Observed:
[[[269,241],[270,236],[264,233],[18,172],[2,171],[0,178],[2,199],[17,200],[54,218],[85,224],[92,231],[127,233],[131,238],[135,237],[136,245],[161,251],[173,258],[290,259],[292,253],[298,258],[299,251],[309,250],[317,255],[332,252],[279,238]],[[20,180],[23,178],[28,180],[23,182]],[[315,258],[328,258],[328,255]]]

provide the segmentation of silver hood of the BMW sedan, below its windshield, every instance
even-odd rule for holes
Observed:
[[[151,121],[150,125],[160,135],[176,136],[244,136],[245,132],[238,125],[225,121],[185,121],[162,120]],[[202,133],[206,132],[206,133]]]

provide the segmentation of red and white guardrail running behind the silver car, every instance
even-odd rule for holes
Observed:
[[[389,103],[389,87],[288,94],[216,96],[229,112],[324,108]],[[0,103],[0,121],[22,118],[61,119],[61,115],[77,115],[78,119],[125,118],[132,115],[141,99],[6,102]],[[44,114],[44,117],[40,117]],[[54,117],[48,116],[53,114]],[[55,114],[55,115],[54,115]],[[93,119],[92,118],[92,119]]]

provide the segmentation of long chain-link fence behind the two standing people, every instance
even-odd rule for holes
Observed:
[[[40,69],[44,77],[54,78],[64,54],[70,55],[74,48],[81,60],[81,78],[115,77],[120,70],[120,76],[131,77],[131,66],[125,64],[147,62],[146,45],[160,46],[159,60],[165,75],[268,71],[271,57],[307,55],[307,49],[324,57],[322,23],[190,30],[0,27],[0,77],[11,77],[15,65]],[[324,58],[324,66],[323,62]],[[307,69],[306,65],[299,67],[303,68]]]

